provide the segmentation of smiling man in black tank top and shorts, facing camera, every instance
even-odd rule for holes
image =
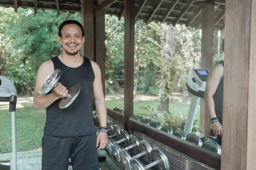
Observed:
[[[42,137],[42,169],[67,170],[71,159],[74,170],[99,170],[97,150],[104,149],[108,142],[101,72],[96,62],[79,54],[84,43],[84,29],[79,22],[61,23],[58,41],[62,53],[42,63],[35,84],[34,107],[46,108],[47,115]],[[55,69],[61,70],[58,85],[41,96],[40,86]],[[73,84],[80,85],[79,95],[69,107],[60,109],[59,100],[67,96]],[[98,136],[93,122],[92,96],[102,129]]]

